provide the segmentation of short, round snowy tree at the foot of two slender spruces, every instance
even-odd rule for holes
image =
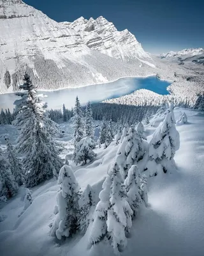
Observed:
[[[92,161],[96,157],[92,150],[93,145],[94,141],[90,137],[85,137],[77,143],[73,153],[75,164],[86,164],[88,160]]]

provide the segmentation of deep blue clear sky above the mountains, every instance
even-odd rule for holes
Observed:
[[[204,47],[204,1],[23,0],[57,21],[105,17],[128,29],[145,51],[159,54]]]

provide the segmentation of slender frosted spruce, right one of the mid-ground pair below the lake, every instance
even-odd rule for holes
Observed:
[[[91,103],[88,102],[85,109],[85,136],[91,137],[94,140],[94,127],[92,118]]]

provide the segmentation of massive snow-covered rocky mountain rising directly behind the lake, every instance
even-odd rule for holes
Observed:
[[[0,93],[25,70],[38,88],[84,86],[154,73],[154,61],[127,29],[103,17],[55,22],[21,0],[0,0]]]

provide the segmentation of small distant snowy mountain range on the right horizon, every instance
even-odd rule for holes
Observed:
[[[178,52],[170,51],[163,53],[160,55],[160,58],[167,58],[169,60],[185,60],[186,58],[192,58],[194,56],[199,56],[200,54],[204,54],[203,48],[189,48]]]

